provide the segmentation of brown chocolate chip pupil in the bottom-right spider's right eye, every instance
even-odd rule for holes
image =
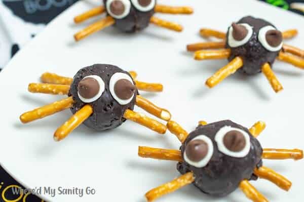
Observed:
[[[240,131],[230,131],[225,134],[223,143],[230,151],[242,151],[246,146],[246,139]]]

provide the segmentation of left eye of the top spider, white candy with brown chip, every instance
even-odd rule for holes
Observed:
[[[130,13],[131,3],[129,0],[108,0],[106,10],[110,16],[122,19]]]

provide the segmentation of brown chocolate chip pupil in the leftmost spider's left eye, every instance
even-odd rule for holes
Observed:
[[[77,87],[79,94],[86,99],[96,96],[99,92],[99,88],[99,83],[92,77],[82,79]]]

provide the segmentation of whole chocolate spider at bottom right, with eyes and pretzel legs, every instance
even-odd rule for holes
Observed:
[[[194,184],[203,193],[226,196],[240,188],[254,202],[268,201],[250,183],[258,178],[267,179],[288,191],[291,182],[264,167],[262,159],[302,159],[299,149],[263,149],[256,137],[263,131],[263,122],[255,123],[249,130],[231,120],[212,124],[199,123],[195,131],[187,133],[170,120],[168,130],[181,142],[179,150],[139,147],[138,155],[178,161],[177,170],[182,176],[151,189],[145,194],[147,201],[173,192],[185,185]]]

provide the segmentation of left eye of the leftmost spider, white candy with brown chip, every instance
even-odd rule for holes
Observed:
[[[85,103],[96,101],[104,92],[104,82],[97,75],[84,77],[77,86],[78,97]]]

